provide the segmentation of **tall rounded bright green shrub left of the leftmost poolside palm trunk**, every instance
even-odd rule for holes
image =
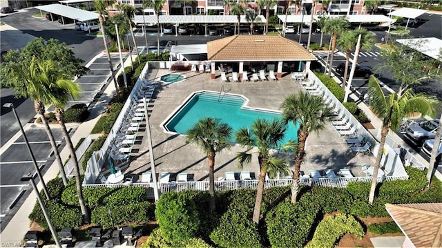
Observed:
[[[161,195],[155,209],[155,216],[168,242],[182,243],[195,238],[200,220],[195,202],[186,195],[175,192]]]

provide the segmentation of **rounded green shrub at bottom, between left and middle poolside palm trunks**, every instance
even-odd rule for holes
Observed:
[[[225,248],[261,247],[260,234],[244,209],[229,209],[211,233],[212,242]]]

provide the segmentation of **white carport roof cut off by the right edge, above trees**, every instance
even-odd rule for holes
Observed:
[[[442,61],[442,39],[434,37],[416,38],[416,39],[396,39],[400,44],[404,44],[414,50],[417,50],[428,57]]]

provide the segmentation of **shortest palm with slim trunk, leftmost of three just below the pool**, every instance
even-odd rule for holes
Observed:
[[[196,144],[206,153],[209,159],[209,193],[210,210],[215,211],[215,180],[213,168],[215,167],[215,155],[224,149],[230,148],[229,137],[232,128],[229,124],[222,123],[217,119],[206,118],[199,120],[194,126],[186,131],[187,142]]]

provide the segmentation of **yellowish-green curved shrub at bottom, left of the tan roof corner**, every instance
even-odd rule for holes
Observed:
[[[357,238],[362,239],[364,229],[353,216],[338,214],[330,216],[321,221],[316,228],[313,240],[306,247],[331,247],[333,248],[345,233],[352,233]]]

